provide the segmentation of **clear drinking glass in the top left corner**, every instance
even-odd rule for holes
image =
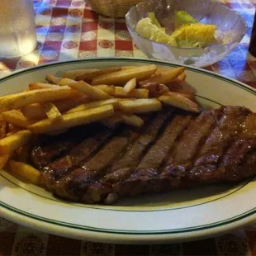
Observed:
[[[36,48],[32,0],[0,1],[0,57],[26,55]]]

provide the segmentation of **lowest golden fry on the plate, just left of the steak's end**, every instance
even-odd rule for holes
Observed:
[[[12,170],[12,173],[25,178],[31,183],[38,185],[41,179],[41,173],[38,169],[32,167],[29,164],[25,164],[23,162],[17,162],[14,160],[9,161],[9,166]]]

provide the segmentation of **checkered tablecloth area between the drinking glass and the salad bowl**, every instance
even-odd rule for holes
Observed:
[[[31,54],[0,59],[0,76],[57,60],[106,56],[145,57],[123,19],[98,16],[81,0],[34,0],[37,48]]]

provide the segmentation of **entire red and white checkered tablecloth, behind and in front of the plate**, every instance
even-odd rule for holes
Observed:
[[[244,17],[248,31],[235,50],[206,69],[256,88],[256,58],[248,52],[256,0],[221,2]],[[37,48],[21,58],[0,59],[0,77],[57,60],[145,57],[131,40],[124,20],[98,16],[82,0],[34,0],[34,7]],[[190,243],[121,245],[49,235],[0,218],[0,255],[256,255],[256,225]]]

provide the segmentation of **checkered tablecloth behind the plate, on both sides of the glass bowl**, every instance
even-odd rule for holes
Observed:
[[[256,88],[256,59],[248,53],[254,1],[220,0],[244,17],[248,31],[235,50],[206,69]],[[146,58],[131,40],[123,19],[99,16],[83,0],[34,0],[34,6],[37,48],[21,58],[0,59],[0,76],[57,60],[106,56]]]

